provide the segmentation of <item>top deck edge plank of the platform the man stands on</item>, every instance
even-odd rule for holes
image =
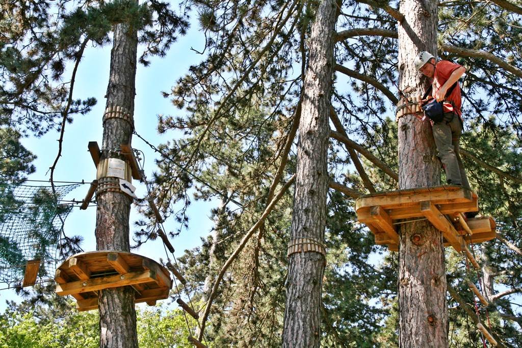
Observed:
[[[399,190],[400,191],[400,190]],[[471,190],[460,187],[452,190],[440,189],[420,190],[415,192],[412,190],[404,190],[397,195],[368,195],[355,200],[355,210],[362,207],[381,206],[383,209],[397,209],[401,207],[409,207],[414,203],[422,201],[431,201],[433,204],[442,203],[461,203],[472,202],[473,193]]]

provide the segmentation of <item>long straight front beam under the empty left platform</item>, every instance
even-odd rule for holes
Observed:
[[[131,272],[127,274],[114,274],[107,277],[58,284],[56,286],[56,294],[61,296],[72,295],[149,282],[157,282],[156,272],[153,270]]]

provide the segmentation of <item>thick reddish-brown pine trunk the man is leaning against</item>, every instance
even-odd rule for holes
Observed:
[[[422,95],[428,81],[413,60],[421,51],[436,56],[437,2],[404,0],[399,23],[399,88]],[[430,122],[413,115],[399,121],[399,187],[440,184],[440,164]],[[442,233],[429,222],[400,225],[399,247],[399,346],[447,347],[448,313]]]

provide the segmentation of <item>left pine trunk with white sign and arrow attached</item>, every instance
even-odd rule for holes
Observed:
[[[135,2],[136,4],[138,1]],[[114,26],[111,68],[106,106],[121,106],[134,114],[136,78],[136,29],[126,24]],[[122,143],[131,143],[132,125],[121,118],[110,118],[103,125],[102,158],[120,158],[115,152]],[[129,213],[131,197],[122,192],[105,191],[98,196],[96,243],[98,250],[129,251]],[[100,291],[100,347],[137,347],[136,310],[131,286]]]

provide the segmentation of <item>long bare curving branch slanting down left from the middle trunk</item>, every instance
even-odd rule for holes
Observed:
[[[214,283],[214,286],[212,287],[212,292],[210,293],[210,295],[208,297],[208,302],[207,302],[207,305],[205,307],[205,313],[203,314],[203,318],[201,319],[201,331],[199,333],[199,338],[198,338],[200,341],[203,339],[203,333],[204,333],[204,330],[205,330],[205,323],[207,321],[208,315],[210,314],[210,307],[212,306],[212,301],[213,301],[214,297],[216,296],[216,294],[218,292],[219,283],[221,283],[221,280],[223,279],[223,275],[225,274],[227,269],[230,267],[230,265],[232,265],[232,262],[241,253],[241,250],[243,250],[243,248],[245,247],[245,245],[248,242],[248,240],[250,239],[250,237],[252,237],[254,232],[257,231],[259,226],[262,225],[262,223],[268,217],[268,214],[270,214],[272,209],[274,209],[274,207],[276,206],[276,204],[279,201],[279,199],[283,196],[284,193],[286,193],[288,188],[293,184],[294,179],[295,179],[295,174],[292,175],[292,177],[289,179],[289,181],[286,184],[284,184],[284,186],[281,188],[281,190],[279,191],[277,196],[275,196],[274,199],[270,201],[270,203],[265,208],[265,211],[263,212],[263,214],[261,215],[259,220],[257,220],[257,222],[243,236],[239,246],[234,250],[232,255],[230,255],[228,260],[224,263],[223,267],[219,271],[218,276],[216,278],[216,283]]]

